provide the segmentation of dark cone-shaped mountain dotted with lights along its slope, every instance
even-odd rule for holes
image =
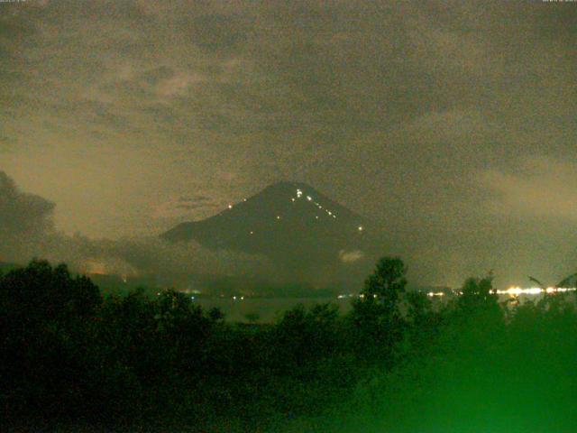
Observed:
[[[194,240],[212,249],[262,254],[289,275],[316,281],[326,272],[355,274],[359,264],[362,272],[370,270],[382,246],[370,220],[305,183],[287,181],[160,236],[174,243]]]

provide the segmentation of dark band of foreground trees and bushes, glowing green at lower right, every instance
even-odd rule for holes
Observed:
[[[499,304],[488,276],[434,308],[404,275],[381,259],[346,315],[243,324],[32,262],[0,276],[1,429],[577,431],[572,299]]]

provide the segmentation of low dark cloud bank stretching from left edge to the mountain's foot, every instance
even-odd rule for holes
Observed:
[[[274,268],[258,255],[215,252],[194,242],[169,244],[151,236],[107,240],[65,235],[52,225],[54,208],[44,198],[21,192],[0,171],[0,261],[26,263],[41,257],[68,263],[77,272],[149,275],[180,283],[191,275],[268,276],[274,281]]]

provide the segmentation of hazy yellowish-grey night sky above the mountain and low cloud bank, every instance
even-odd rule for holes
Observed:
[[[0,3],[0,170],[66,233],[157,234],[299,180],[415,278],[554,283],[576,156],[577,3]]]

